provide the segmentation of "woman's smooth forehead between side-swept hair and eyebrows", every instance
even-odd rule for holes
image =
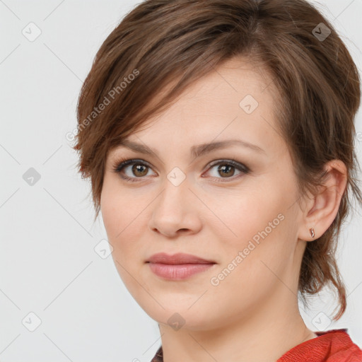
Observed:
[[[230,59],[192,83],[168,109],[148,119],[146,129],[127,139],[151,143],[161,152],[170,152],[170,145],[191,148],[230,138],[268,148],[280,139],[274,115],[278,97],[264,69],[250,60]]]

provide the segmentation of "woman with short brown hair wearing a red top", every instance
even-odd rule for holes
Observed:
[[[119,275],[159,323],[153,361],[362,361],[347,329],[313,332],[298,308],[332,286],[337,313],[317,319],[346,309],[334,248],[362,202],[359,86],[304,0],[148,0],[107,37],[74,148]]]

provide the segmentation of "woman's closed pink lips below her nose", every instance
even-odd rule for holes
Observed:
[[[216,264],[212,260],[202,259],[195,255],[184,253],[168,255],[164,252],[152,255],[146,262],[154,274],[173,280],[187,279]]]

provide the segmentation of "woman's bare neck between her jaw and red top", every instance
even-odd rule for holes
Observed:
[[[300,316],[296,294],[283,284],[263,305],[223,320],[215,329],[159,326],[164,362],[276,362],[289,349],[317,337]]]

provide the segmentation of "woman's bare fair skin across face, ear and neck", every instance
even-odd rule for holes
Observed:
[[[259,103],[251,114],[239,106],[247,94]],[[300,263],[306,243],[314,240],[309,229],[319,238],[337,215],[346,168],[339,160],[328,163],[325,187],[298,206],[291,155],[276,132],[276,94],[260,69],[228,60],[129,136],[158,156],[122,146],[107,156],[100,206],[112,257],[136,302],[159,323],[165,362],[276,361],[317,337],[298,309]],[[226,139],[264,152],[228,146],[196,159],[189,154],[194,145]],[[113,172],[122,157],[151,167],[132,173],[127,165],[123,175],[137,179],[127,182]],[[218,165],[210,165],[223,159],[224,166],[235,159],[250,173],[230,166],[223,177]],[[175,167],[186,176],[178,186],[167,177]],[[283,220],[217,286],[211,284],[278,215]],[[170,281],[145,263],[156,252],[185,252],[216,264]],[[185,323],[180,329],[168,323],[174,313]]]

